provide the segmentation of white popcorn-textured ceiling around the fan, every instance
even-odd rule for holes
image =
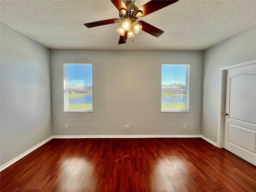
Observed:
[[[50,49],[205,50],[256,24],[255,0],[180,0],[139,19],[164,30],[160,37],[141,31],[119,45],[120,23],[84,26],[118,18],[110,0],[1,0],[0,11],[1,22]]]

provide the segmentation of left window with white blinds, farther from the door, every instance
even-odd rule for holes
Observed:
[[[65,112],[92,112],[92,64],[64,63]]]

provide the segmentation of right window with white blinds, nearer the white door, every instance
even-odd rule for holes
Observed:
[[[162,112],[188,112],[190,64],[162,64]]]

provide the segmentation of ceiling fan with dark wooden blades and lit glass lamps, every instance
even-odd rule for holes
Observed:
[[[138,8],[134,5],[135,0],[111,0],[114,6],[119,10],[119,19],[114,18],[96,21],[85,23],[84,25],[91,28],[122,22],[121,26],[116,30],[120,34],[118,44],[124,44],[127,37],[134,37],[135,34],[138,34],[141,30],[155,37],[159,37],[164,31],[142,20],[139,22],[136,22],[136,20],[138,20],[139,17],[144,17],[177,1],[178,0],[151,0]]]

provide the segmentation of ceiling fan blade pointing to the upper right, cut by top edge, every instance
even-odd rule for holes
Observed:
[[[179,0],[151,0],[150,2],[147,2],[146,4],[139,7],[137,10],[141,10],[142,17],[144,17],[177,1]]]

